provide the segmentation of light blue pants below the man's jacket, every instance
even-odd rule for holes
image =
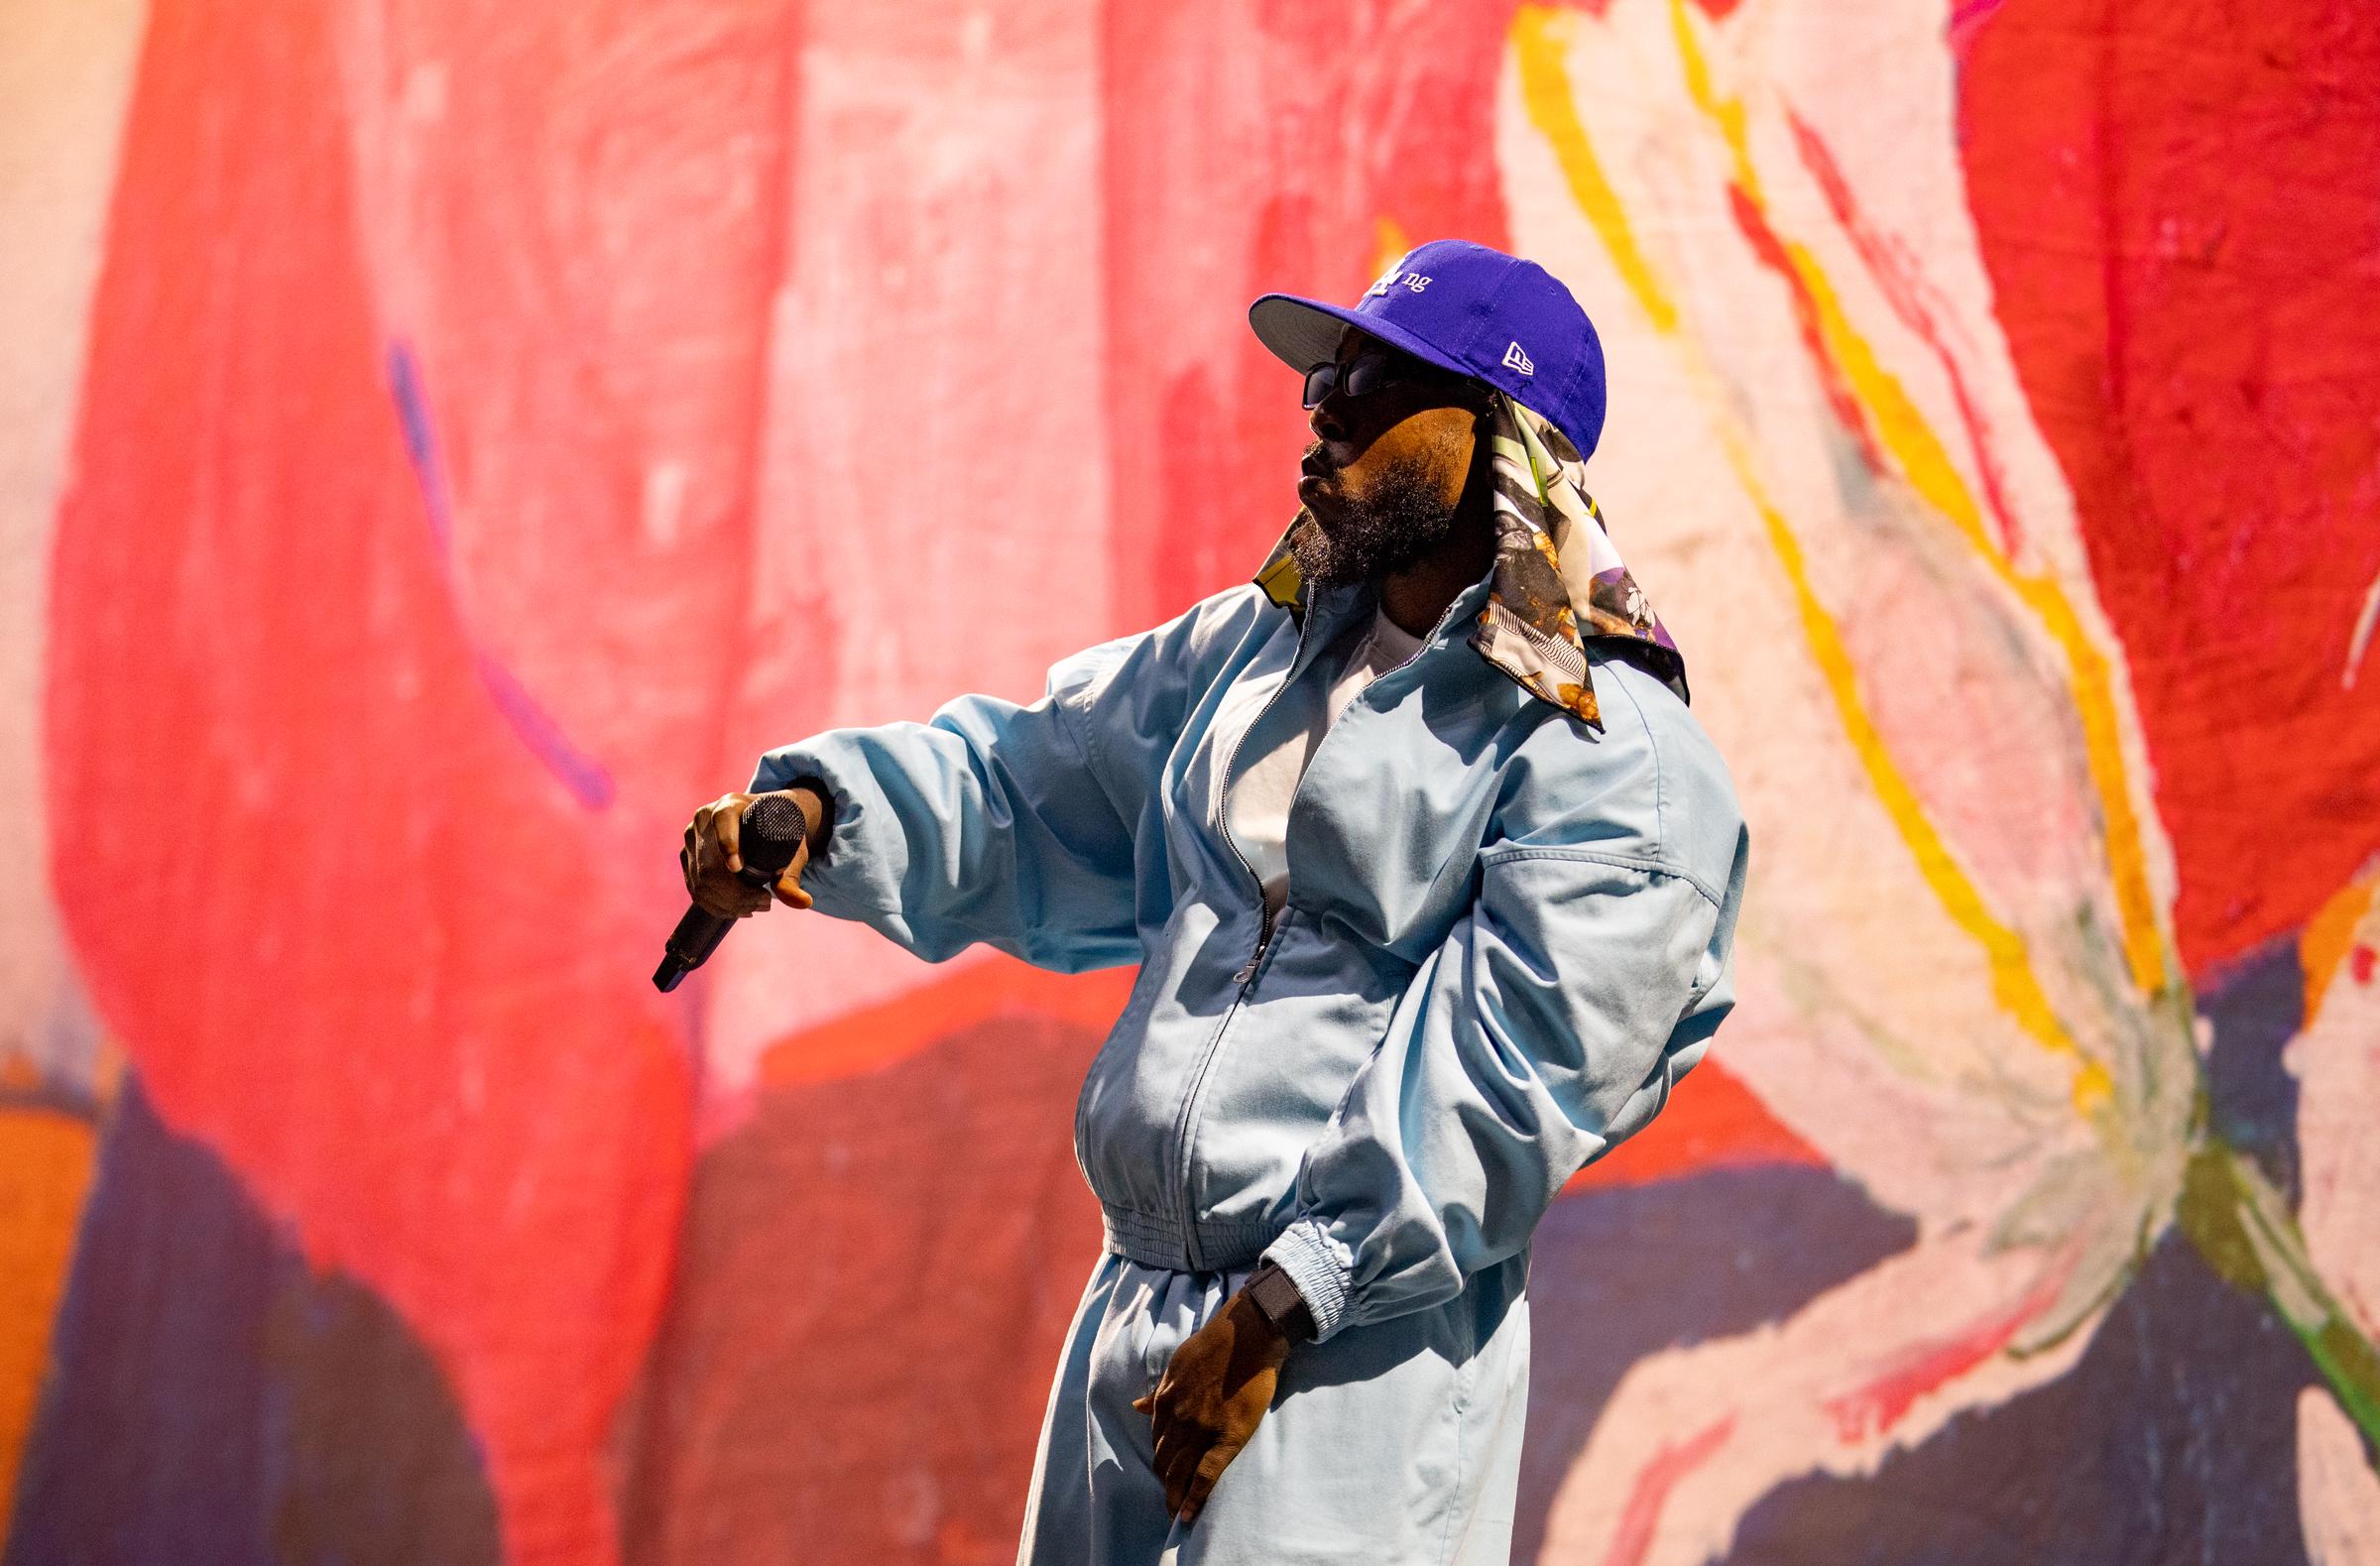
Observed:
[[[1050,1390],[1019,1566],[1507,1566],[1526,1276],[1521,1254],[1442,1307],[1290,1349],[1271,1414],[1183,1528],[1130,1404],[1247,1271],[1104,1254]]]

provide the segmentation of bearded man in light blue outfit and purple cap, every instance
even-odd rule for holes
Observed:
[[[1107,1247],[1019,1561],[1504,1561],[1528,1238],[1733,1004],[1745,823],[1578,488],[1568,290],[1438,240],[1250,324],[1316,436],[1257,583],[1028,707],[771,750],[752,790],[812,821],[774,895],[928,959],[1140,964],[1076,1107]],[[719,914],[769,907],[752,797],[685,833]]]

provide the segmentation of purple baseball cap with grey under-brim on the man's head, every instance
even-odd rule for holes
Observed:
[[[1357,326],[1537,409],[1580,457],[1595,455],[1604,433],[1595,321],[1545,267],[1488,245],[1416,245],[1354,309],[1269,293],[1247,307],[1247,324],[1297,374],[1335,357],[1340,333]]]

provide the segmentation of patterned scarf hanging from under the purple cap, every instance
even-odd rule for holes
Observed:
[[[1687,700],[1685,654],[1628,576],[1604,528],[1604,512],[1580,478],[1578,447],[1535,409],[1495,395],[1490,433],[1495,478],[1495,566],[1488,607],[1471,645],[1533,697],[1561,707],[1595,731],[1602,709],[1587,674],[1585,638],[1630,643],[1678,700]],[[1295,533],[1295,524],[1290,533]],[[1304,574],[1280,535],[1257,585],[1280,607],[1304,612]]]

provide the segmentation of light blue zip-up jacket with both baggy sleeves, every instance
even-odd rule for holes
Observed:
[[[1464,645],[1485,597],[1314,750],[1278,919],[1211,812],[1216,709],[1283,662],[1328,681],[1368,585],[1304,616],[1233,588],[1061,662],[1028,707],[835,728],[752,781],[833,790],[802,881],[826,914],[935,961],[1138,961],[1076,1107],[1109,1247],[1183,1271],[1271,1257],[1323,1338],[1521,1254],[1733,1004],[1747,835],[1709,735],[1604,643],[1599,733],[1533,697]]]

